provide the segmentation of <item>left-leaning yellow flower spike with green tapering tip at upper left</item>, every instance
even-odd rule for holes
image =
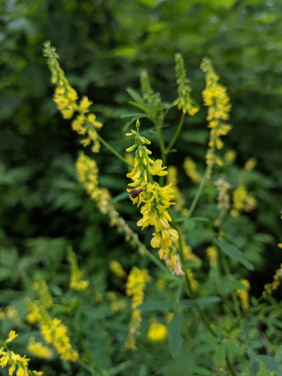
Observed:
[[[78,96],[76,91],[70,86],[65,76],[65,72],[58,62],[59,55],[50,42],[44,45],[44,56],[47,57],[47,64],[51,72],[51,82],[55,85],[54,102],[57,104],[59,111],[64,119],[73,118],[74,113],[77,115],[71,123],[72,129],[80,135],[87,135],[80,142],[83,146],[88,146],[93,142],[92,151],[99,153],[100,142],[98,140],[97,129],[103,126],[96,121],[94,113],[88,113],[89,107],[93,103],[87,96],[83,96],[77,103]],[[88,115],[86,115],[88,113]]]

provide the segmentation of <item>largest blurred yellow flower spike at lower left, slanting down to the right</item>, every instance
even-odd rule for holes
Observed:
[[[46,298],[50,296],[47,285],[44,281],[37,283],[37,287],[40,285],[44,286],[44,294],[40,292],[38,300],[34,302],[30,300],[27,302],[26,306],[27,310],[29,310],[29,314],[27,314],[26,318],[31,324],[38,323],[40,325],[40,332],[44,340],[54,346],[58,354],[60,354],[61,359],[75,362],[79,356],[78,353],[72,349],[70,338],[67,336],[68,328],[61,320],[57,319],[57,317],[52,319],[49,316],[47,308],[50,307],[52,302],[49,298]]]

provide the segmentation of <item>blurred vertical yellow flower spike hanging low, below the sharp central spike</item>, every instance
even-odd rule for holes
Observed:
[[[141,310],[138,305],[144,301],[144,290],[146,284],[150,282],[148,270],[140,270],[133,267],[128,275],[126,282],[126,295],[131,298],[132,315],[129,323],[129,333],[125,343],[126,349],[135,350],[135,336],[139,334],[138,329],[142,322]]]

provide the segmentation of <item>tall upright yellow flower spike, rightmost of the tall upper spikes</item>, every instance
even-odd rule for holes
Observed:
[[[208,106],[207,121],[211,128],[209,150],[207,153],[207,164],[217,163],[222,165],[222,161],[214,155],[214,149],[222,149],[223,142],[221,136],[225,136],[231,130],[232,126],[223,123],[229,119],[231,110],[230,98],[226,88],[218,83],[219,76],[215,73],[210,59],[205,57],[201,63],[201,69],[205,73],[206,88],[203,90],[203,99],[205,106]]]

